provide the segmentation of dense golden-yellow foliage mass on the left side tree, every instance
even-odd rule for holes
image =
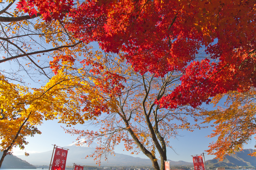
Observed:
[[[27,144],[25,136],[41,133],[36,126],[43,119],[58,119],[59,123],[71,126],[83,124],[85,119],[95,116],[81,110],[79,96],[74,90],[81,88],[81,85],[76,77],[65,74],[61,72],[54,76],[40,89],[9,83],[4,75],[0,75],[1,151],[9,147],[11,151],[17,145],[23,149],[24,144]]]

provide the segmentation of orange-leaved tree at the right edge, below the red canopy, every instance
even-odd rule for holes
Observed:
[[[243,145],[256,134],[255,94],[255,88],[243,93],[229,91],[226,94],[219,94],[213,98],[212,103],[216,106],[221,99],[227,98],[223,107],[219,106],[214,111],[202,112],[207,116],[204,123],[214,120],[216,124],[214,133],[209,137],[218,136],[218,139],[210,143],[210,149],[207,150],[209,154],[214,154],[223,160],[227,154],[242,150]],[[256,152],[250,155],[256,156]]]

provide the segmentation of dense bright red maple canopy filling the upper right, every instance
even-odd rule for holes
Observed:
[[[48,3],[53,2],[50,15]],[[123,52],[135,71],[160,77],[183,72],[180,86],[159,101],[162,107],[196,107],[218,93],[256,86],[254,1],[86,0],[72,9],[72,1],[63,4],[61,11],[67,9],[72,18],[66,23],[69,31],[83,41],[99,42],[106,52]],[[47,1],[39,13],[45,20],[56,19],[58,5]],[[208,57],[198,61],[203,46]]]

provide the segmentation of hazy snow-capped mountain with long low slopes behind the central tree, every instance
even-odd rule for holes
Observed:
[[[83,142],[84,140],[80,140],[79,142]],[[88,147],[87,143],[83,143],[80,146],[76,146],[77,142],[69,144],[63,148],[69,149],[67,155],[67,163],[66,165],[71,166],[73,163],[80,165],[90,165],[97,166],[96,161],[93,158],[87,158],[86,155],[92,153],[96,146],[98,145],[95,142]],[[31,153],[28,157],[25,155],[18,155],[19,158],[28,161],[33,165],[49,165],[51,161],[52,151],[42,152],[42,153]],[[186,166],[193,165],[193,163],[185,162],[185,161],[170,161],[171,166]],[[102,166],[152,166],[152,162],[150,159],[142,159],[140,157],[133,157],[130,155],[115,153],[114,155],[109,155],[107,161],[103,158],[101,160]]]

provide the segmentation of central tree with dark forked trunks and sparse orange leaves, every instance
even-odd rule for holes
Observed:
[[[98,142],[99,147],[95,152],[87,155],[87,157],[95,157],[94,160],[97,163],[100,164],[101,158],[106,160],[108,154],[114,154],[115,146],[124,142],[127,151],[131,151],[132,154],[141,151],[152,161],[154,169],[164,169],[164,161],[167,160],[166,149],[172,148],[168,139],[179,136],[179,129],[193,131],[194,128],[204,128],[189,122],[188,117],[196,122],[200,119],[197,111],[190,106],[181,105],[175,109],[165,109],[155,102],[177,86],[176,83],[179,82],[181,76],[179,72],[169,72],[163,78],[155,77],[151,73],[140,75],[124,60],[119,60],[113,54],[101,54],[100,52],[93,59],[93,63],[97,63],[99,71],[96,71],[89,79],[95,84],[91,86],[93,87],[91,91],[97,92],[98,97],[92,98],[90,96],[92,92],[90,92],[85,93],[82,99],[86,104],[86,111],[106,106],[101,116],[96,120],[91,120],[89,124],[89,126],[96,126],[100,129],[91,131],[71,128],[67,132],[79,134],[77,140],[86,138],[89,144],[93,140]],[[87,75],[83,71],[86,67],[84,65],[80,74]],[[113,86],[117,87],[114,93],[113,89],[103,89],[103,87],[109,87],[105,85],[110,82],[109,79],[103,79],[106,77],[106,72],[121,76],[120,83]],[[87,79],[88,77],[84,77],[84,82],[90,81]],[[88,102],[92,99],[96,100],[93,108],[88,107],[91,105]],[[160,155],[161,165],[157,162],[157,153]]]

